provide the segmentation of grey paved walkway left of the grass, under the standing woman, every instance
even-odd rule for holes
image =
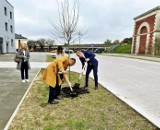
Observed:
[[[7,124],[38,71],[39,69],[31,69],[29,72],[30,82],[22,83],[18,70],[0,68],[0,129]]]

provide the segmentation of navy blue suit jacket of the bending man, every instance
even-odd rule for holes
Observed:
[[[88,61],[88,64],[89,65],[93,65],[93,66],[97,66],[98,65],[98,61],[97,59],[95,58],[95,54],[92,53],[91,51],[82,51],[82,53],[84,54],[85,58],[89,58],[90,60]],[[82,63],[82,67],[84,66],[85,64],[85,59],[84,58],[79,58],[81,63]]]

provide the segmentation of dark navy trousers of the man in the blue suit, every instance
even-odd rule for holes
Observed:
[[[88,87],[88,79],[89,79],[89,74],[90,74],[91,70],[93,70],[95,87],[98,87],[98,74],[97,74],[98,73],[98,62],[95,65],[88,64],[87,71],[86,71],[85,87]]]

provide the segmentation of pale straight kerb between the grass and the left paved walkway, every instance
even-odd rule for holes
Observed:
[[[8,130],[8,129],[9,129],[9,126],[11,125],[13,119],[15,118],[16,114],[18,113],[18,110],[19,110],[20,106],[22,105],[22,103],[23,103],[25,97],[27,96],[29,90],[31,89],[31,87],[32,87],[32,85],[33,85],[33,83],[34,83],[36,77],[37,77],[38,74],[40,73],[40,71],[41,71],[41,69],[38,71],[38,73],[37,73],[37,74],[35,75],[35,77],[33,78],[33,80],[32,80],[32,82],[31,82],[30,86],[28,87],[28,89],[27,89],[27,91],[25,92],[25,94],[23,95],[21,101],[20,101],[19,104],[17,105],[15,111],[13,112],[13,114],[12,114],[12,116],[10,117],[9,121],[7,122],[7,124],[6,124],[5,128],[4,128],[4,130]]]

